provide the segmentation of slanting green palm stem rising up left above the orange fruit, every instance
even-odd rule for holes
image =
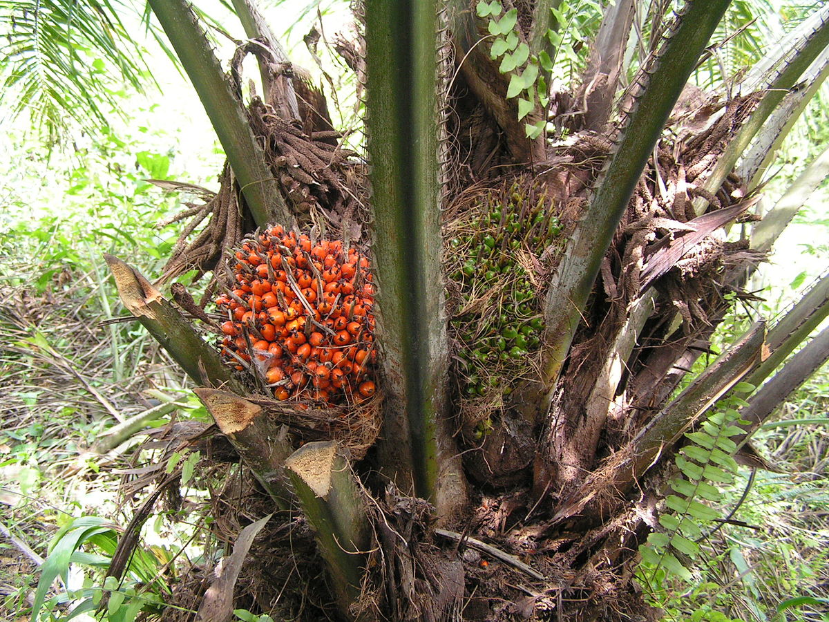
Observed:
[[[149,3],[216,130],[256,224],[290,223],[290,212],[273,173],[264,162],[264,153],[250,129],[245,109],[225,79],[190,3],[186,0],[150,0]]]

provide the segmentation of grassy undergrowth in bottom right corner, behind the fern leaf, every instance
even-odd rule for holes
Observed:
[[[702,532],[691,527],[681,561],[666,552],[666,535],[645,552],[642,585],[666,620],[827,620],[827,387],[823,372],[754,435],[759,453],[779,472],[739,466],[730,482],[700,484],[715,502],[713,512],[699,520],[686,511]],[[678,488],[705,498],[687,484]],[[662,515],[668,533],[680,513],[675,505]]]

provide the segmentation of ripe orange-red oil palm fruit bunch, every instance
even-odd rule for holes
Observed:
[[[279,400],[341,404],[374,395],[374,284],[369,260],[342,241],[270,226],[236,252],[221,354],[264,377]]]

